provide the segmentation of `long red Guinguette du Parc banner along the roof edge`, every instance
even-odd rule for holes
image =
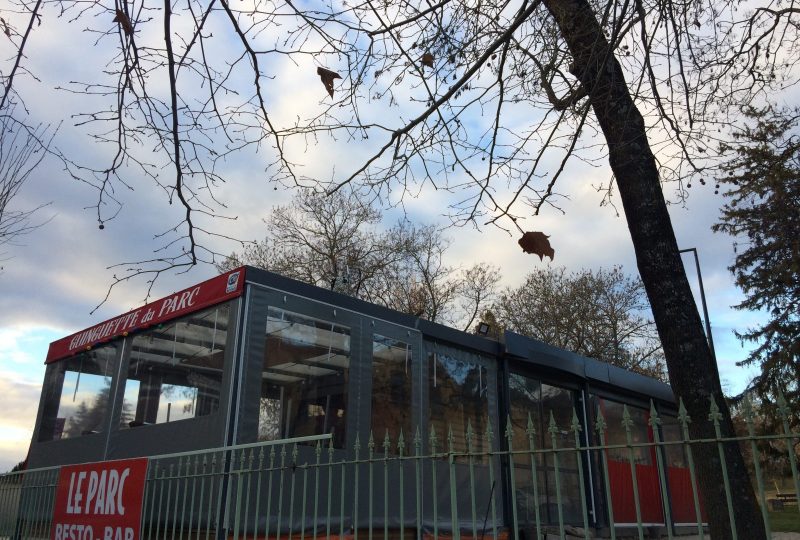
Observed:
[[[129,311],[125,315],[82,330],[50,344],[46,364],[90,349],[98,343],[128,335],[141,328],[188,315],[225,300],[236,298],[244,290],[244,268],[237,268],[194,287],[176,292],[161,300]]]

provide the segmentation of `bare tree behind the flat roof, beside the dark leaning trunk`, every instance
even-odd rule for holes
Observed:
[[[620,268],[535,270],[501,292],[499,324],[545,343],[666,379],[666,364],[641,281]]]

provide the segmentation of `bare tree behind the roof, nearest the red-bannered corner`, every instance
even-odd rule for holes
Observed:
[[[435,225],[379,227],[357,193],[301,190],[265,219],[266,238],[218,265],[257,266],[434,322],[473,325],[495,298],[500,273],[486,263],[445,263],[450,240]]]

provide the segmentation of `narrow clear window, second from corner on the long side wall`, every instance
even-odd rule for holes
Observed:
[[[383,449],[386,433],[393,443],[393,453],[400,430],[407,444],[413,440],[411,365],[411,347],[408,343],[377,334],[373,336],[370,428],[378,451]]]

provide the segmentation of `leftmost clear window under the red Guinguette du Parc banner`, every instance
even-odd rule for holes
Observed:
[[[57,399],[58,408],[54,401],[45,405],[46,411],[56,412],[44,419],[40,440],[70,439],[105,429],[116,358],[117,347],[105,345],[58,363],[47,398]]]

